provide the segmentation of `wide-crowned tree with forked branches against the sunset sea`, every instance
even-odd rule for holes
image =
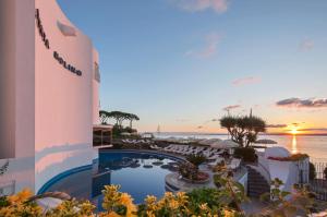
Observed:
[[[220,119],[220,125],[227,129],[233,142],[245,147],[257,140],[258,133],[266,132],[266,122],[255,116],[226,116]]]

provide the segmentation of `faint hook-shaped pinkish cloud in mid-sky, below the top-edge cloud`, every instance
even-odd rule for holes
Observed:
[[[209,58],[217,52],[220,39],[221,36],[219,34],[209,34],[205,37],[205,47],[202,50],[189,50],[185,55],[203,59]]]

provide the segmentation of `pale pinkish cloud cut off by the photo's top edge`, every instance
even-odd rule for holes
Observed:
[[[180,9],[190,12],[214,10],[223,13],[229,7],[229,0],[172,0]]]

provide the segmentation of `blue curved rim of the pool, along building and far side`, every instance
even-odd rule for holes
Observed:
[[[179,161],[185,161],[184,158],[182,157],[178,157],[174,155],[171,155],[169,153],[161,153],[161,152],[156,152],[156,150],[145,150],[145,149],[99,149],[99,154],[100,153],[137,153],[137,154],[153,154],[153,155],[160,155],[160,156],[165,156],[169,159],[173,159],[173,160],[179,160]],[[65,170],[55,177],[52,177],[51,179],[49,179],[38,191],[37,194],[43,194],[45,192],[47,192],[47,190],[55,184],[56,182],[71,176],[77,172],[82,172],[88,169],[93,168],[93,165],[98,161],[98,159],[94,159],[93,164],[90,165],[85,165],[85,166],[81,166],[81,167],[75,167],[69,170]]]

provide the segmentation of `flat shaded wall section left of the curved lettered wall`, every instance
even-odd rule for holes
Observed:
[[[34,190],[34,3],[0,1],[0,167],[9,161],[0,188]]]

